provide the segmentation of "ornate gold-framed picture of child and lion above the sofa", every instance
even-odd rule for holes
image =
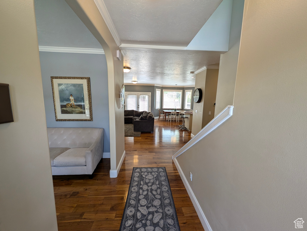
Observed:
[[[89,77],[51,76],[56,121],[93,121]]]

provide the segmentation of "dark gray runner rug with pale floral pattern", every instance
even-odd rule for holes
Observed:
[[[180,231],[165,167],[134,167],[120,231]]]

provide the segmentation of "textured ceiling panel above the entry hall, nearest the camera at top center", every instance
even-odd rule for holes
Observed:
[[[187,46],[222,0],[104,0],[123,44]]]

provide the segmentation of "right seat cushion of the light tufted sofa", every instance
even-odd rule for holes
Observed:
[[[86,165],[85,151],[87,149],[88,148],[70,148],[60,156],[57,156],[53,160],[53,164],[57,167],[84,166]]]

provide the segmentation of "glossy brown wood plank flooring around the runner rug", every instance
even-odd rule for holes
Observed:
[[[133,167],[166,167],[181,231],[203,227],[173,164],[172,156],[191,137],[178,122],[155,120],[153,133],[125,137],[126,157],[117,178],[110,178],[110,159],[87,175],[53,176],[59,231],[118,231]]]

